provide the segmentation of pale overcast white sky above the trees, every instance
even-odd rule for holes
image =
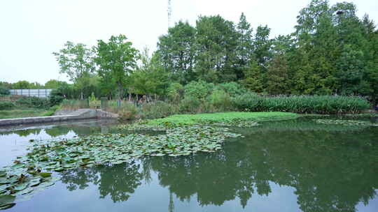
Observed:
[[[330,1],[331,4],[339,1]],[[358,16],[378,22],[377,0],[355,0]],[[172,24],[199,15],[221,15],[237,22],[242,12],[255,29],[272,28],[272,36],[293,32],[296,16],[309,0],[172,0]],[[95,45],[123,33],[142,50],[156,49],[167,32],[167,0],[0,0],[0,81],[44,84],[66,80],[52,52],[67,40]]]

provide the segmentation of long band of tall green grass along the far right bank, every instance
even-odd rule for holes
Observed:
[[[358,96],[257,96],[246,93],[232,99],[241,111],[296,112],[308,114],[358,113],[369,109],[370,104]]]

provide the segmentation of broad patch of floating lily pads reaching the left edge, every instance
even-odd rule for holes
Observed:
[[[34,141],[27,156],[0,172],[0,209],[13,206],[15,196],[43,189],[57,180],[52,172],[105,163],[120,164],[141,156],[188,156],[221,149],[226,128],[183,126],[168,128],[165,135],[105,134],[61,141]],[[12,200],[13,201],[10,201]]]

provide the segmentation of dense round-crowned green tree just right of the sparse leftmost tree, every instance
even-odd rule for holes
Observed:
[[[99,66],[97,73],[102,79],[113,79],[118,87],[118,100],[123,97],[123,86],[132,71],[137,68],[139,52],[126,36],[111,36],[109,42],[97,41],[94,61]]]

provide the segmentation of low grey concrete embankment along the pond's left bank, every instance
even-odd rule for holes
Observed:
[[[57,121],[72,121],[79,119],[112,119],[118,118],[117,114],[102,111],[101,109],[78,109],[65,115],[39,116],[18,119],[0,119],[0,126],[20,125],[29,123],[45,123]]]

